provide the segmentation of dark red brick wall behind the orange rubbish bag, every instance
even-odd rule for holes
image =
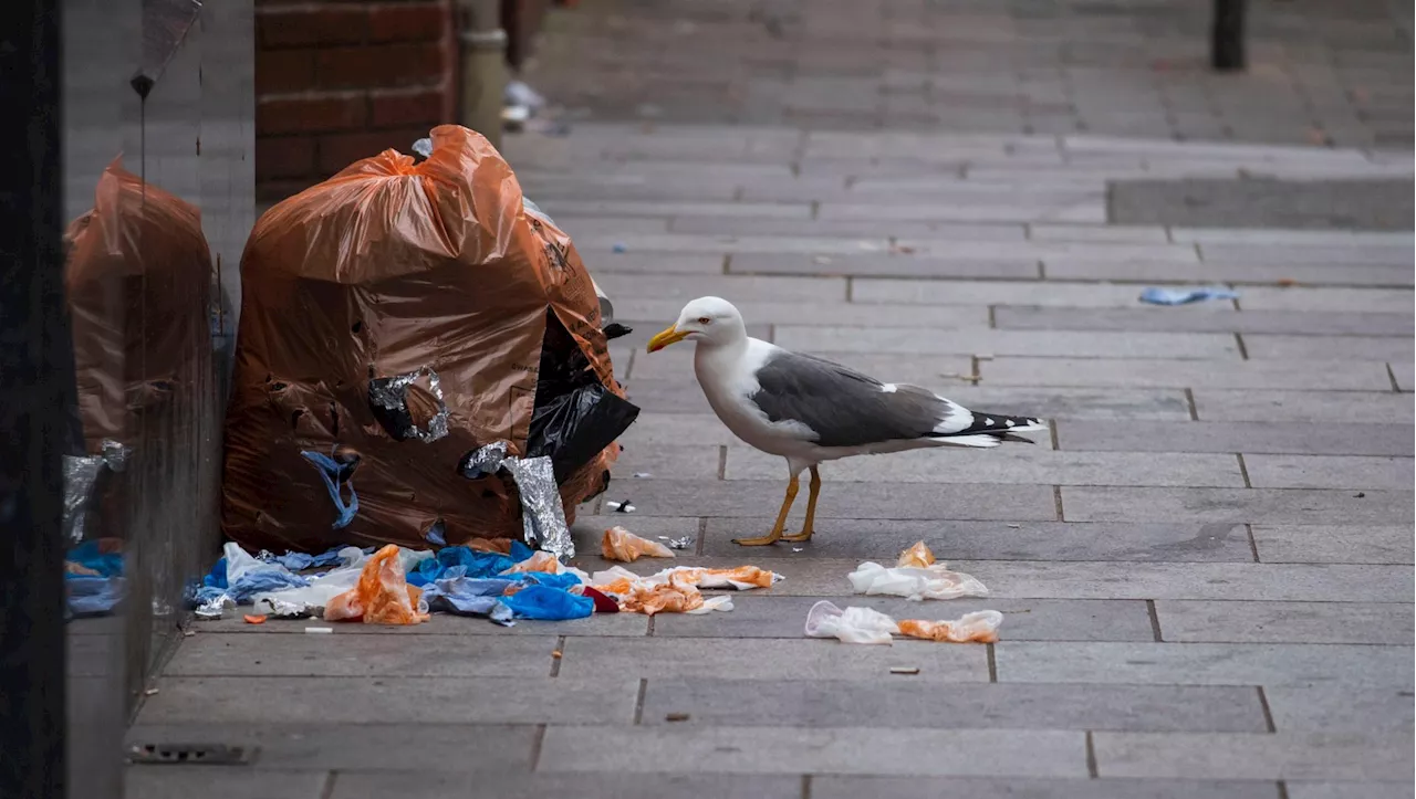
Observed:
[[[452,0],[256,0],[256,194],[456,122]]]

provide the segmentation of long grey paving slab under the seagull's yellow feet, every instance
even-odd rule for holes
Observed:
[[[908,519],[820,519],[810,542],[745,552],[732,543],[749,530],[765,530],[773,519],[707,519],[704,554],[783,559],[823,557],[885,561],[923,540],[947,560],[1041,561],[1240,561],[1253,559],[1243,525],[1238,523],[1082,523],[1082,522],[943,522]],[[632,526],[637,529],[639,522]],[[1398,543],[1392,537],[1393,546]],[[796,552],[796,550],[801,552]],[[1410,547],[1416,559],[1416,543]],[[1416,560],[1413,560],[1416,563]],[[1065,571],[1066,567],[1062,567]]]

